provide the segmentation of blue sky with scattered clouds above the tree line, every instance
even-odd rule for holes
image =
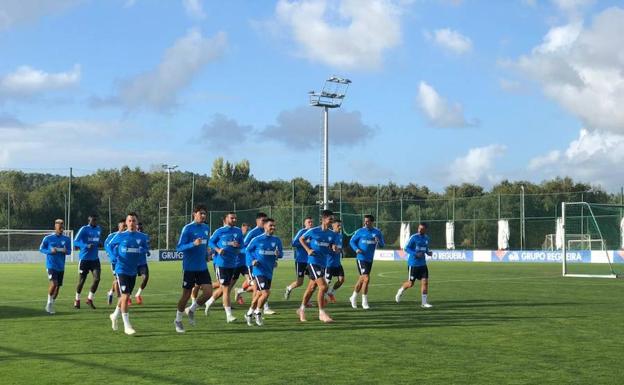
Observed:
[[[619,6],[619,8],[618,8]],[[624,184],[624,7],[591,0],[3,0],[0,167]],[[52,152],[52,156],[50,156]],[[41,156],[46,154],[46,156]]]

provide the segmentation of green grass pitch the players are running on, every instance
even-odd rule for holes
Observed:
[[[145,305],[131,307],[137,335],[110,329],[105,291],[97,310],[72,306],[76,266],[69,265],[57,314],[43,311],[47,277],[40,265],[0,265],[2,384],[564,384],[622,383],[624,282],[563,279],[558,264],[431,263],[431,310],[407,291],[403,263],[376,262],[372,310],[350,308],[356,277],[330,305],[336,322],[316,311],[299,323],[282,289],[291,261],[273,281],[272,307],[262,328],[226,324],[220,306],[175,333],[180,264],[153,263]],[[87,284],[90,284],[87,281]]]

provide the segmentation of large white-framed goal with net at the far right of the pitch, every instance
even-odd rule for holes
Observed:
[[[624,205],[563,202],[561,215],[563,276],[624,276]]]

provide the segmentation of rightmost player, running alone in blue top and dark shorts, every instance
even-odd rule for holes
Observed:
[[[429,236],[427,235],[427,224],[418,225],[418,232],[412,235],[405,245],[405,252],[409,255],[407,259],[408,280],[397,291],[394,300],[401,302],[401,296],[405,290],[414,286],[414,281],[420,281],[421,307],[426,309],[433,307],[427,302],[427,293],[429,292],[429,269],[427,269],[427,255],[433,253],[429,249]]]

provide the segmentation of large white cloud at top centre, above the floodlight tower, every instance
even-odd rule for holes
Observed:
[[[277,20],[299,54],[339,69],[376,69],[401,41],[401,7],[392,0],[279,0]]]

